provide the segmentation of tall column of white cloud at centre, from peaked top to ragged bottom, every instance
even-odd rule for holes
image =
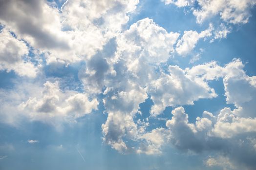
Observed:
[[[147,77],[155,74],[152,65],[166,62],[170,57],[178,35],[168,33],[152,19],[145,18],[116,38],[115,55],[95,56],[95,60],[88,63],[85,76],[82,76],[85,85],[90,79],[101,78],[94,81],[96,85],[89,85],[88,90],[100,92],[104,85],[107,87],[103,100],[108,113],[107,121],[102,125],[104,141],[121,153],[134,150],[126,144],[124,137],[138,140],[141,136],[133,117],[139,104],[148,98],[143,86],[148,82]],[[101,68],[95,67],[97,63]],[[153,148],[157,150],[157,147]]]

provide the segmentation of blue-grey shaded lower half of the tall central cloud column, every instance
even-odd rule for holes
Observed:
[[[107,96],[103,100],[108,113],[107,121],[102,125],[104,141],[119,152],[131,150],[123,140],[124,136],[136,139],[137,125],[133,121],[139,104],[147,99],[147,93],[138,85],[130,84],[121,88],[106,89]]]

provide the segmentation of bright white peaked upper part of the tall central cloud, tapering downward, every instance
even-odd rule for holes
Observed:
[[[168,33],[152,19],[139,20],[117,37],[117,52],[113,60],[124,62],[129,79],[144,86],[154,78],[154,67],[169,59],[178,36],[178,33]]]

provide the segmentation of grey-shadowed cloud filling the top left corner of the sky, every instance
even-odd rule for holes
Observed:
[[[58,9],[44,0],[2,0],[0,22],[10,27],[18,37],[42,49],[68,48],[62,38]]]

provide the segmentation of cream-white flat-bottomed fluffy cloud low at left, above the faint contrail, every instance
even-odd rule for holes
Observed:
[[[42,94],[30,97],[19,105],[22,112],[33,120],[51,121],[53,118],[75,119],[97,109],[97,99],[89,100],[86,94],[65,91],[59,88],[58,82],[43,84]]]

